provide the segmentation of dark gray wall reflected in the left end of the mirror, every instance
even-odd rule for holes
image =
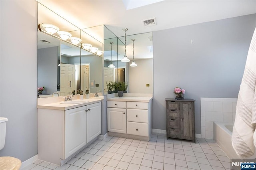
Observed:
[[[38,87],[45,86],[44,94],[57,91],[58,47],[38,49]]]

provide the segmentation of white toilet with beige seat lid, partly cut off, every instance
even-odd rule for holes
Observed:
[[[6,117],[0,117],[0,150],[4,148],[6,136]],[[0,170],[19,170],[21,161],[11,156],[0,157]]]

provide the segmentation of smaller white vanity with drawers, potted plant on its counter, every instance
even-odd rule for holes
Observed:
[[[107,120],[111,136],[149,140],[152,133],[152,94],[108,95]]]

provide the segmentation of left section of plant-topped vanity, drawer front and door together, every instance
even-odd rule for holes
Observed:
[[[108,131],[126,134],[126,102],[108,101]]]

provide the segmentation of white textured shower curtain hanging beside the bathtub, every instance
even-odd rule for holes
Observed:
[[[236,154],[248,158],[254,154],[256,146],[256,29],[248,51],[246,65],[233,127],[232,145]]]

